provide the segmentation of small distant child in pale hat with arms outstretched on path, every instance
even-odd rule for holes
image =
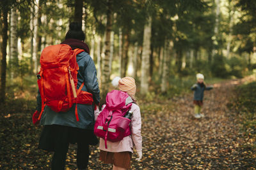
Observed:
[[[197,83],[191,87],[191,90],[195,90],[193,102],[195,104],[195,118],[201,118],[204,117],[204,115],[200,113],[203,106],[204,90],[211,90],[213,87],[205,86],[203,74],[196,74],[196,80]]]

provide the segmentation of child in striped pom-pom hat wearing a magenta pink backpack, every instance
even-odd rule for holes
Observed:
[[[112,83],[118,90],[109,92],[102,110],[95,111],[94,132],[100,137],[99,159],[104,164],[113,164],[113,169],[130,169],[134,145],[136,160],[142,157],[141,114],[134,98],[136,84],[132,77],[116,77]]]

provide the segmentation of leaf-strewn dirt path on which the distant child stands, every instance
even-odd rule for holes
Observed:
[[[133,159],[132,169],[255,169],[250,150],[241,147],[246,139],[241,138],[235,113],[227,108],[234,87],[242,81],[214,84],[206,91],[205,117],[199,120],[193,118],[192,92],[154,103],[156,110],[161,109],[143,115],[143,159]],[[109,168],[95,157],[98,152],[89,169]]]

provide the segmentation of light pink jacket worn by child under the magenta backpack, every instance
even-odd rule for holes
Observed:
[[[106,105],[102,106],[102,110]],[[104,139],[100,138],[100,150],[108,152],[132,152],[133,146],[135,145],[136,151],[142,150],[142,136],[141,136],[141,115],[140,107],[137,104],[132,103],[131,111],[133,112],[133,117],[131,121],[131,132],[130,136],[126,136],[121,141],[111,142],[107,141],[108,149],[105,148]],[[98,117],[100,111],[95,110],[95,120]]]

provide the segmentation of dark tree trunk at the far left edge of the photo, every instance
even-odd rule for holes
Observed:
[[[4,9],[1,11],[1,15],[3,16],[3,20],[1,21],[1,35],[2,35],[2,43],[1,43],[1,89],[0,89],[0,103],[5,102],[5,88],[6,88],[6,47],[8,41],[8,10]],[[2,17],[1,17],[2,18]]]

